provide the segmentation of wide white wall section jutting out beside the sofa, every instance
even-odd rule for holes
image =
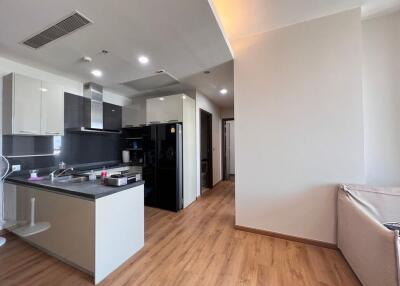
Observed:
[[[336,242],[338,183],[364,183],[355,9],[237,40],[236,224]]]

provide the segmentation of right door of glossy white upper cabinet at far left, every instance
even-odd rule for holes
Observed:
[[[42,134],[64,135],[64,93],[60,85],[42,81]]]

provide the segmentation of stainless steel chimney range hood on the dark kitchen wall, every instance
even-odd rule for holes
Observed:
[[[99,84],[88,82],[83,85],[84,114],[83,126],[73,128],[71,132],[87,133],[121,133],[120,130],[103,128],[103,87]]]

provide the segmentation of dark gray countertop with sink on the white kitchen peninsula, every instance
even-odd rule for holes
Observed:
[[[50,190],[57,193],[96,200],[111,194],[115,194],[130,188],[134,188],[144,184],[144,181],[138,181],[125,186],[112,187],[101,184],[100,179],[96,181],[84,182],[51,182],[49,179],[41,181],[29,181],[27,177],[11,177],[7,178],[6,183],[24,185],[33,188]]]

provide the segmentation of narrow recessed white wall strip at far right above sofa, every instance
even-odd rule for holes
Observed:
[[[362,28],[367,183],[400,186],[400,12]]]

